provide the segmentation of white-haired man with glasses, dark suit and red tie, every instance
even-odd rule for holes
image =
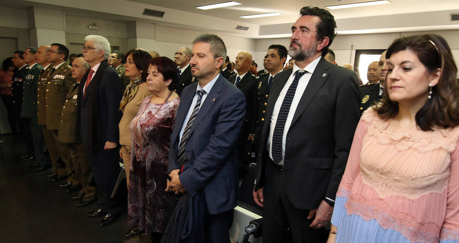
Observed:
[[[83,47],[84,60],[91,68],[82,77],[78,91],[79,124],[82,144],[88,150],[94,180],[97,185],[99,200],[97,210],[90,212],[89,217],[104,217],[99,227],[115,221],[121,213],[118,202],[111,198],[118,179],[119,143],[118,123],[121,119],[119,101],[122,96],[121,80],[107,59],[110,57],[110,43],[103,36],[85,37]]]

